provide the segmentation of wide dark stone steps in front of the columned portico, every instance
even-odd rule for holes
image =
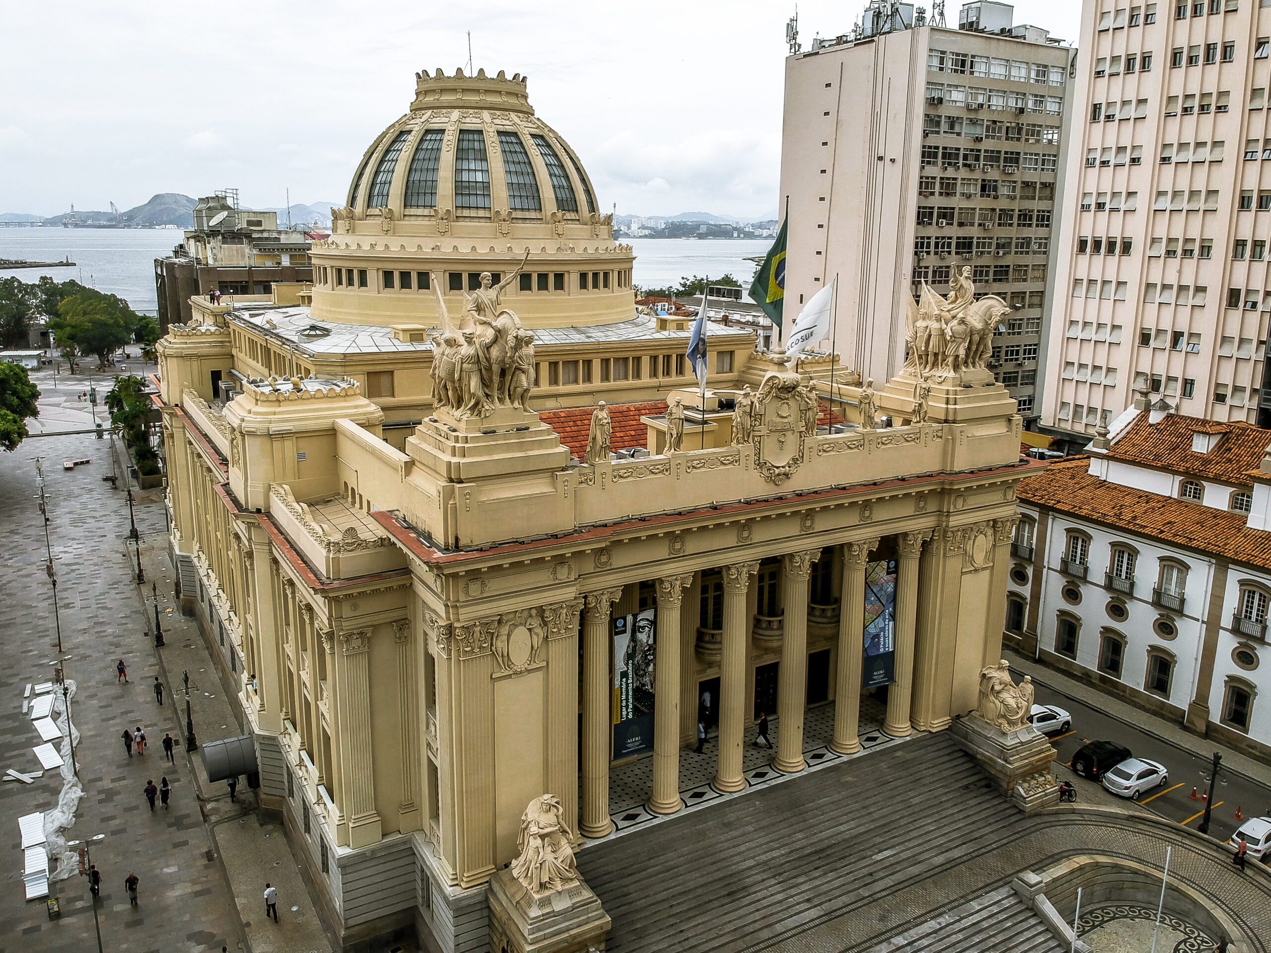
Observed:
[[[731,950],[988,850],[1030,821],[946,736],[853,759],[578,854],[613,950]]]

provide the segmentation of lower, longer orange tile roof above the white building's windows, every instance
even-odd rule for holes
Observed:
[[[1244,513],[1108,483],[1092,476],[1088,466],[1085,456],[1056,460],[1037,476],[1019,483],[1019,501],[1271,569],[1271,532],[1251,530],[1244,525]]]

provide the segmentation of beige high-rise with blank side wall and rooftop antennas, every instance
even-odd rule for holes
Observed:
[[[976,295],[1016,309],[993,370],[1028,419],[1041,409],[1074,51],[1012,14],[966,4],[952,29],[874,0],[853,34],[789,56],[785,314],[838,274],[835,349],[885,380],[905,362],[906,295],[923,281],[947,294],[970,267]]]

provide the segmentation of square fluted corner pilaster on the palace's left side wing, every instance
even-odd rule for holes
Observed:
[[[364,848],[380,840],[380,816],[375,812],[375,764],[371,756],[371,633],[369,629],[339,634],[342,703],[341,738],[348,803],[348,846]]]

